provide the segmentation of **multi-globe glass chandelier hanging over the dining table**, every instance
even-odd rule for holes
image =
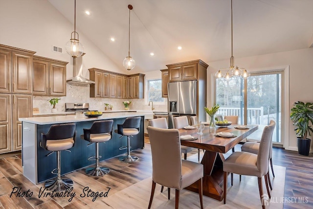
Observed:
[[[228,81],[232,77],[242,77],[243,79],[246,79],[250,76],[250,72],[247,71],[244,68],[239,68],[234,65],[235,58],[233,56],[233,0],[231,0],[231,57],[230,57],[230,67],[229,68],[223,68],[218,70],[215,73],[216,78],[224,78],[224,80]],[[226,71],[226,74],[223,74],[223,71]]]

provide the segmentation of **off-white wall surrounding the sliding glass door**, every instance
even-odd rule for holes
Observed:
[[[208,81],[211,80],[215,72],[220,68],[229,67],[229,60],[208,63]],[[288,108],[285,113],[287,119],[285,127],[288,132],[284,136],[285,148],[297,150],[297,140],[294,127],[290,120],[290,109],[296,101],[313,102],[313,48],[285,51],[280,53],[265,54],[253,57],[235,57],[235,65],[246,68],[251,72],[284,69],[289,67],[288,87],[289,100],[285,106]],[[211,92],[211,86],[208,86],[208,92]],[[212,104],[212,98],[207,97],[207,104]],[[210,105],[209,105],[210,106]],[[311,144],[313,147],[313,143]]]

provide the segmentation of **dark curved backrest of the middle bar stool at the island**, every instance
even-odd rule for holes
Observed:
[[[110,133],[110,135],[112,136],[112,129],[113,129],[113,120],[94,121],[90,129],[85,129],[85,128],[83,129],[84,139],[89,140],[90,134]]]

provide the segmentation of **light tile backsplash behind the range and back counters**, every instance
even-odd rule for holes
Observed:
[[[90,110],[104,111],[105,103],[113,106],[112,110],[124,110],[123,101],[132,101],[130,110],[151,110],[144,99],[115,99],[115,98],[90,98],[89,86],[76,86],[67,84],[67,96],[33,96],[33,107],[39,108],[39,113],[51,113],[51,98],[60,98],[56,104],[58,112],[65,111],[67,102],[88,102]],[[155,111],[167,112],[167,105],[154,105]]]

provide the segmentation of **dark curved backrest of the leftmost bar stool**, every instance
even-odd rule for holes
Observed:
[[[52,125],[46,134],[41,134],[41,144],[42,147],[46,149],[47,140],[59,140],[59,139],[69,139],[73,138],[75,142],[75,123],[64,123]],[[74,144],[73,144],[74,146]]]

